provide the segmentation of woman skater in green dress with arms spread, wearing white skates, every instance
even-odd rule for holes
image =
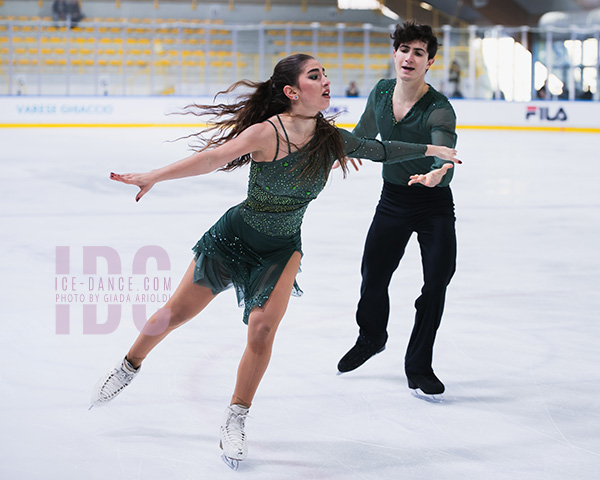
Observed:
[[[302,255],[300,224],[334,161],[340,161],[344,173],[346,156],[393,162],[434,155],[450,162],[445,169],[458,162],[450,148],[366,140],[338,130],[320,113],[329,106],[330,82],[311,56],[286,57],[266,82],[241,81],[228,92],[240,85],[250,87],[251,93],[238,103],[197,106],[216,116],[208,129],[216,134],[199,152],[147,173],[111,174],[113,180],[139,187],[138,201],[158,182],[250,163],[248,198],[198,241],[195,258],[173,296],[148,320],[125,358],[100,379],[92,394],[96,406],[115,398],[161,340],[233,285],[245,307],[248,336],[220,429],[223,459],[232,468],[247,456],[248,409],[289,297],[300,293],[295,282]]]

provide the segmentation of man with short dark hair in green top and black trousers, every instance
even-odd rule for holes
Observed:
[[[405,22],[397,25],[391,37],[396,78],[380,80],[373,88],[354,134],[454,147],[454,110],[446,97],[425,82],[438,48],[431,27]],[[435,157],[383,166],[383,191],[361,266],[361,298],[356,312],[359,336],[340,360],[340,373],[354,370],[385,348],[388,286],[410,236],[416,232],[424,285],[415,302],[415,323],[404,366],[408,386],[416,395],[442,399],[444,384],[435,376],[432,360],[446,287],[456,265],[451,167]],[[424,168],[429,173],[418,175]]]

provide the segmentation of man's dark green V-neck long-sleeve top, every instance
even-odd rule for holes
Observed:
[[[396,121],[392,106],[392,96],[396,79],[380,80],[371,90],[365,111],[354,128],[357,137],[429,145],[456,146],[456,114],[448,99],[431,85],[400,121]],[[437,157],[421,157],[402,163],[383,164],[384,180],[396,185],[408,185],[411,175],[427,173],[440,168],[445,162]],[[450,184],[454,169],[448,170],[438,185]]]

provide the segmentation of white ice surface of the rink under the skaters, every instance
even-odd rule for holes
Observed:
[[[69,334],[57,334],[64,303],[55,280],[64,275],[55,248],[70,248],[69,277],[79,281],[85,246],[114,249],[119,277],[132,276],[140,247],[160,246],[174,289],[197,238],[244,198],[247,171],[161,184],[139,203],[134,187],[108,175],[184,156],[185,142],[164,142],[182,133],[0,130],[0,478],[597,477],[600,137],[592,134],[459,132],[458,270],[435,351],[444,403],[411,396],[403,374],[421,287],[415,239],[391,286],[387,349],[336,376],[357,334],[360,257],[381,186],[379,167],[367,164],[347,180],[336,172],[309,207],[305,295],[291,299],[277,334],[239,471],[221,461],[218,440],[246,333],[232,291],[152,352],[114,403],[88,411],[97,378],[137,334],[135,302],[124,302],[109,334],[84,334],[84,307],[73,303]],[[148,272],[164,274],[151,262]],[[98,323],[106,303],[95,304]]]

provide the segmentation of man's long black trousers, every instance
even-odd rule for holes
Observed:
[[[404,359],[407,374],[432,373],[433,344],[446,288],[456,269],[454,202],[450,187],[405,187],[384,182],[367,234],[356,321],[376,345],[387,341],[388,287],[413,232],[421,249],[423,288]]]

